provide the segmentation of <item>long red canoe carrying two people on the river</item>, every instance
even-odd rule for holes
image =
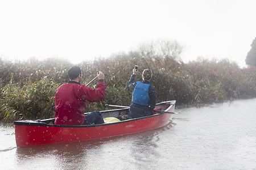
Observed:
[[[54,118],[41,120],[40,122],[27,120],[14,121],[16,145],[18,147],[24,147],[83,141],[160,128],[170,122],[175,103],[176,101],[172,100],[156,104],[156,108],[161,108],[161,111],[164,112],[159,112],[151,116],[131,118],[100,125],[54,125]],[[128,112],[128,108],[101,111],[104,118],[123,116]]]

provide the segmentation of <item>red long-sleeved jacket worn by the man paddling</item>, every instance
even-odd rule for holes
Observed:
[[[62,84],[54,97],[55,124],[84,124],[86,101],[97,102],[105,99],[106,84],[100,81],[97,83],[97,89],[73,81]]]

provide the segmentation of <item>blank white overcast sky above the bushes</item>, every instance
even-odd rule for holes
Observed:
[[[163,39],[185,46],[184,62],[229,58],[245,67],[255,18],[254,0],[0,0],[0,57],[79,63]]]

